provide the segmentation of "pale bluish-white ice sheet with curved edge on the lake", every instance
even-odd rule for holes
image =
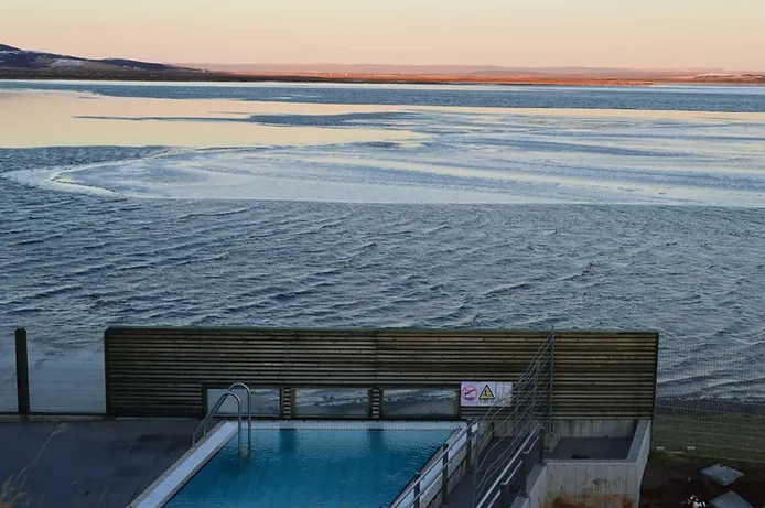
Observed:
[[[187,150],[8,175],[149,198],[765,205],[765,120],[439,109],[386,119],[427,138]]]

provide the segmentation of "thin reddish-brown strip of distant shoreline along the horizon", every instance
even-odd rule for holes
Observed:
[[[657,85],[742,85],[765,86],[765,75],[740,76],[522,76],[522,75],[423,75],[423,74],[332,74],[332,73],[220,73],[220,72],[76,72],[62,69],[3,69],[0,79],[9,80],[95,80],[95,82],[174,82],[174,83],[338,83],[406,85],[508,85],[508,86],[618,86]]]

